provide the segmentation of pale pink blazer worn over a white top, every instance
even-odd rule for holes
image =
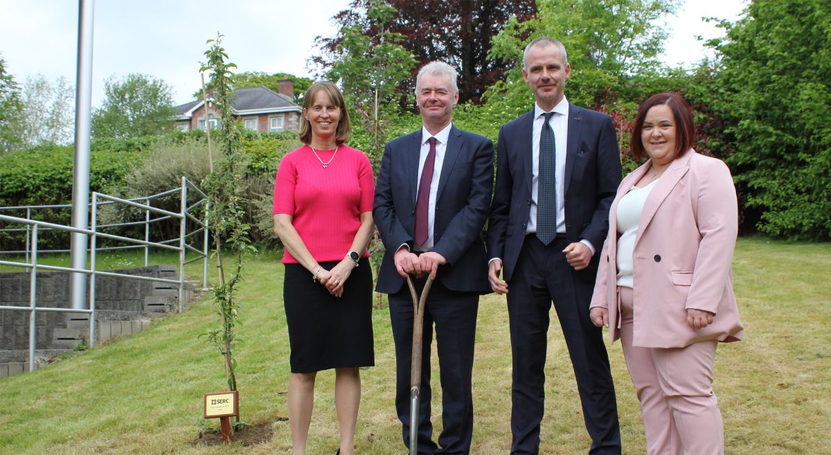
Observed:
[[[591,307],[609,310],[609,341],[619,336],[617,203],[650,163],[627,175],[612,203]],[[742,335],[730,261],[738,232],[738,204],[730,169],[690,149],[675,159],[644,203],[635,239],[632,345],[679,348]],[[711,311],[711,325],[693,330],[686,309]]]

